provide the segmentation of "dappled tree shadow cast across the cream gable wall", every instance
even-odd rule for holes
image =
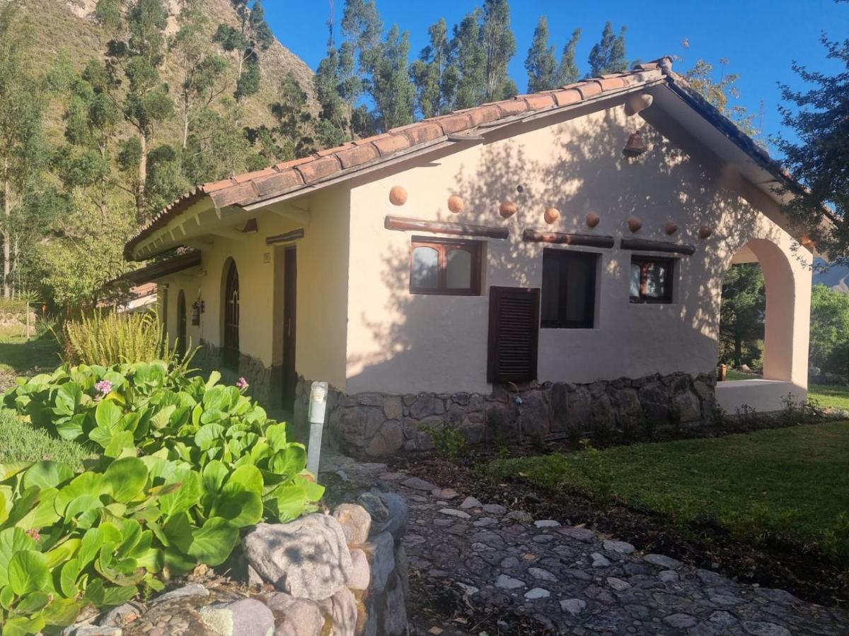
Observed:
[[[464,199],[465,209],[453,215],[445,202],[436,210],[439,220],[486,226],[503,226],[498,215],[500,201],[514,201],[519,212],[506,222],[510,237],[490,239],[481,297],[426,296],[408,293],[409,235],[403,248],[391,248],[383,259],[381,280],[392,290],[385,306],[394,321],[372,322],[367,315],[358,320],[368,326],[380,353],[352,357],[349,363],[362,371],[354,376],[356,386],[381,390],[387,378],[410,378],[403,390],[386,393],[475,391],[486,374],[488,288],[540,287],[543,245],[524,243],[526,228],[551,232],[581,232],[691,243],[693,256],[680,259],[673,304],[655,305],[640,313],[629,307],[627,277],[630,252],[601,250],[603,256],[598,329],[581,334],[564,333],[565,345],[558,351],[554,368],[558,377],[540,381],[570,380],[573,376],[612,379],[670,373],[677,360],[694,374],[710,372],[717,361],[722,277],[733,255],[753,238],[777,241],[779,232],[765,236],[754,221],[750,205],[769,206],[768,198],[742,181],[731,170],[723,170],[716,159],[700,148],[689,134],[663,118],[648,118],[662,126],[666,135],[650,125],[643,136],[649,149],[638,159],[627,159],[621,149],[633,130],[624,123],[620,109],[604,111],[581,120],[581,126],[561,121],[546,133],[550,149],[525,145],[520,137],[502,137],[487,142],[473,173],[457,170],[451,187]],[[521,132],[540,131],[545,126],[532,122]],[[668,128],[668,130],[667,130]],[[531,140],[540,137],[529,137]],[[674,139],[674,141],[672,141]],[[439,165],[441,157],[419,164]],[[517,187],[522,186],[522,192]],[[548,226],[543,210],[554,206],[561,219]],[[585,215],[597,212],[601,223],[591,231]],[[403,209],[398,214],[403,215]],[[640,232],[631,234],[626,220],[644,220]],[[667,237],[665,220],[678,223],[678,233]],[[713,228],[711,237],[697,236],[700,226]],[[617,240],[618,245],[618,240]],[[647,308],[648,309],[648,308]],[[680,326],[684,326],[681,329]],[[573,331],[573,330],[564,330]],[[559,338],[559,336],[558,336]],[[608,352],[602,354],[601,352]],[[541,358],[543,354],[541,353]],[[667,365],[667,368],[661,368]],[[450,386],[440,384],[451,377]],[[463,378],[479,378],[469,387]],[[434,382],[438,388],[434,387]],[[398,386],[397,382],[391,382]]]

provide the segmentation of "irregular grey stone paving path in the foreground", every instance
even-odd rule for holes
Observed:
[[[849,634],[846,613],[780,589],[734,583],[583,527],[534,519],[380,464],[342,467],[409,505],[402,540],[413,572],[469,605],[529,616],[564,634]],[[350,477],[350,475],[348,476]],[[505,628],[508,626],[505,624]],[[448,632],[437,630],[430,633]]]

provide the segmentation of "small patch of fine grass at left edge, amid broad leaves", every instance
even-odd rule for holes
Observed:
[[[52,438],[47,432],[31,427],[10,410],[0,410],[0,464],[11,461],[53,460],[75,471],[82,460],[93,456],[91,449],[66,439]]]

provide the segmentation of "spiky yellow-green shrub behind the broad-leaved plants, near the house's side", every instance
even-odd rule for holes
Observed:
[[[115,365],[156,360],[168,352],[165,331],[152,311],[135,314],[95,311],[65,322],[62,345],[71,365]]]

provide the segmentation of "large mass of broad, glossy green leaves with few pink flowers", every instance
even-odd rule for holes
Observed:
[[[63,366],[19,379],[3,403],[59,437],[103,449],[75,474],[0,466],[3,634],[55,632],[87,605],[119,605],[199,563],[239,530],[321,499],[306,449],[235,387],[163,361]]]

